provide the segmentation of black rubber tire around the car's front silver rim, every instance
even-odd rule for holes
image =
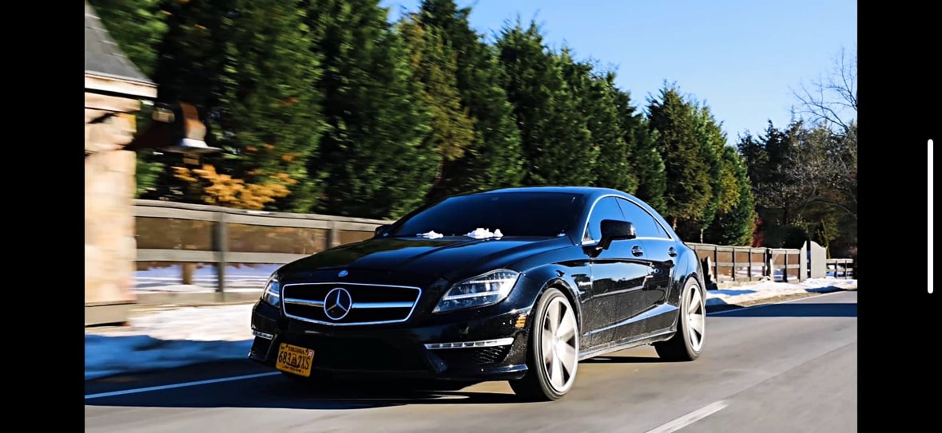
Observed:
[[[527,376],[517,380],[511,380],[511,388],[519,398],[524,401],[549,401],[558,400],[566,393],[572,390],[572,382],[575,381],[577,368],[573,368],[572,378],[568,379],[568,387],[562,392],[554,389],[550,384],[550,378],[542,360],[544,359],[543,346],[541,344],[544,333],[544,319],[548,307],[555,299],[561,298],[566,308],[572,310],[572,304],[569,299],[560,292],[559,289],[547,289],[540,300],[537,301],[533,320],[530,324],[527,350]],[[574,312],[575,313],[575,312]],[[578,354],[578,336],[579,329],[576,324],[575,330],[575,348]],[[541,360],[541,361],[538,361]],[[577,362],[578,363],[578,362]]]

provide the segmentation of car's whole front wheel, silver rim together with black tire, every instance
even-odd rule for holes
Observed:
[[[527,376],[511,381],[513,393],[527,400],[556,400],[576,381],[579,327],[576,312],[559,289],[546,290],[536,305],[530,329]]]

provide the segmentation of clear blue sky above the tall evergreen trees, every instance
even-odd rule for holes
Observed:
[[[382,0],[391,19],[419,0]],[[857,40],[853,0],[458,0],[493,40],[517,15],[541,24],[553,48],[617,68],[617,83],[645,104],[664,80],[706,102],[728,142],[745,130],[784,126],[791,88],[828,72]]]

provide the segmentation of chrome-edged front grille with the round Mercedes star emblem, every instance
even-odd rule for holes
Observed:
[[[398,285],[297,283],[282,287],[282,303],[284,315],[305,322],[333,326],[379,325],[408,320],[421,293],[418,287]]]

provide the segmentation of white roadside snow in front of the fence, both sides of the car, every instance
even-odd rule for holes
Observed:
[[[707,305],[856,288],[856,280],[762,281],[707,291]],[[252,304],[138,311],[129,326],[86,329],[85,378],[243,360],[252,345]]]

